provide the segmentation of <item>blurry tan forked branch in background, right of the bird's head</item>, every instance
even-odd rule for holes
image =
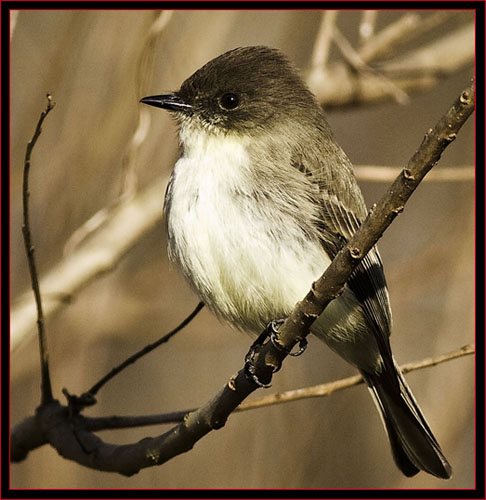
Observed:
[[[337,17],[324,13],[322,25],[328,36],[316,40],[313,66],[307,77],[309,86],[325,107],[377,102],[389,97],[399,103],[406,102],[407,93],[427,90],[440,78],[474,61],[474,22],[443,33],[425,45],[396,53],[398,47],[403,48],[416,36],[429,30],[433,32],[450,15],[451,12],[428,16],[404,14],[370,36],[355,52],[333,27]],[[331,40],[341,47],[343,54],[348,54],[344,61],[327,64]],[[319,57],[324,59],[324,64],[319,63]]]

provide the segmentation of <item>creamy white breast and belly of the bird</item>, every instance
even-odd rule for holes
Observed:
[[[212,141],[187,148],[174,168],[169,250],[206,305],[259,332],[289,313],[330,260],[297,224],[282,222],[272,200],[255,202],[245,148]]]

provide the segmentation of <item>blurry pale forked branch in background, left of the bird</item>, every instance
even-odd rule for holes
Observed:
[[[152,77],[156,41],[170,22],[173,11],[154,11],[138,56],[134,102]],[[16,17],[16,16],[15,16]],[[112,270],[120,259],[162,218],[168,175],[137,192],[136,157],[150,128],[150,113],[140,106],[135,131],[122,158],[120,196],[76,229],[64,247],[64,257],[41,278],[45,315],[69,304],[76,293],[97,277]],[[89,241],[86,241],[88,240]],[[31,294],[16,301],[11,311],[11,349],[25,340],[35,324],[36,310]]]

